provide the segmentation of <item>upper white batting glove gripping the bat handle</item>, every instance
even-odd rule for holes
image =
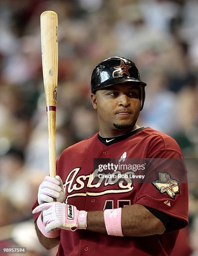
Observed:
[[[58,175],[55,178],[46,176],[38,189],[39,205],[45,202],[53,202],[53,198],[56,198],[56,201],[61,203],[65,200],[63,181]]]

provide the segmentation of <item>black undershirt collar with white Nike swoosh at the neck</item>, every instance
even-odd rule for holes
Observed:
[[[134,135],[135,133],[138,133],[139,131],[142,131],[143,129],[145,129],[144,127],[140,127],[138,129],[135,129],[133,131],[130,131],[129,133],[125,133],[125,134],[122,134],[122,135],[119,135],[119,136],[115,136],[115,137],[102,137],[100,135],[100,133],[98,133],[98,139],[103,143],[105,144],[106,146],[109,146],[115,142],[118,142],[118,141],[122,141],[124,140],[125,138],[128,138],[132,135]]]

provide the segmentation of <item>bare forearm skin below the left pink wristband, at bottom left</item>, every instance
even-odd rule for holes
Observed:
[[[56,238],[47,238],[43,236],[43,234],[40,232],[37,223],[35,223],[35,229],[38,236],[38,240],[40,241],[40,244],[45,247],[45,249],[50,250],[57,246],[60,243],[60,236]]]

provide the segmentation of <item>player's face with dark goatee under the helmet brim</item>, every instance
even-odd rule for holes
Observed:
[[[100,130],[131,131],[140,113],[140,86],[132,83],[115,84],[91,94],[98,111]]]

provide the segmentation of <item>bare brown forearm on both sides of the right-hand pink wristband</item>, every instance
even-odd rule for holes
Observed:
[[[104,212],[88,212],[87,229],[94,232],[107,233]],[[122,233],[124,236],[150,236],[162,234],[163,223],[143,205],[130,205],[122,208]]]

